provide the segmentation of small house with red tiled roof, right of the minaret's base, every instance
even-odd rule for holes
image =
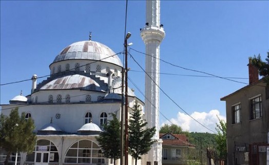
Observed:
[[[160,139],[163,140],[163,165],[186,164],[189,150],[195,149],[184,134],[160,134]]]

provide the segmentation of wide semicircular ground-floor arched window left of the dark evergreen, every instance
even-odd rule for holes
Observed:
[[[105,164],[105,157],[97,143],[90,140],[80,140],[68,149],[64,163]]]

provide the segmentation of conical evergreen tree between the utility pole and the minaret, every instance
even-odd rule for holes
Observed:
[[[133,111],[131,113],[129,119],[129,153],[136,160],[141,159],[141,156],[146,154],[151,145],[155,142],[151,138],[156,132],[155,127],[146,128],[147,122],[145,119],[142,119],[141,110],[139,110],[139,105],[136,104],[133,107]]]

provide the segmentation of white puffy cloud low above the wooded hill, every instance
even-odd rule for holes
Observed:
[[[201,126],[197,121],[199,121],[203,126]],[[208,113],[206,112],[193,112],[188,116],[187,114],[179,112],[177,114],[177,118],[171,118],[170,121],[172,123],[175,123],[176,125],[179,125],[184,131],[189,132],[208,132],[208,133],[214,133],[216,131],[216,123],[219,123],[219,119],[222,119],[226,122],[226,117],[220,115],[220,112],[218,110],[211,110]],[[217,117],[218,116],[218,117]],[[164,123],[170,123],[169,121],[165,121]],[[163,124],[164,124],[163,123]],[[212,131],[214,132],[212,132]]]

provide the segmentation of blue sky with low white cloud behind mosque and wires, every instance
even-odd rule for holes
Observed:
[[[1,84],[48,75],[49,65],[66,46],[80,40],[123,51],[125,1],[1,1]],[[132,49],[145,52],[140,28],[145,1],[128,1],[127,31]],[[248,78],[248,57],[269,51],[268,1],[161,1],[166,36],[160,58],[180,67],[221,77]],[[145,55],[130,50],[144,67]],[[119,55],[122,59],[122,55]],[[129,57],[130,79],[144,92],[144,73]],[[214,130],[216,115],[225,118],[220,98],[244,86],[161,62],[160,87],[177,104]],[[136,72],[140,71],[140,72]],[[195,76],[186,76],[195,75]],[[248,83],[248,79],[234,79]],[[42,79],[38,79],[41,82]],[[143,95],[130,82],[139,98]],[[31,81],[1,86],[1,104],[30,94]],[[208,132],[160,92],[160,112],[188,131]],[[169,123],[160,115],[160,124]]]

